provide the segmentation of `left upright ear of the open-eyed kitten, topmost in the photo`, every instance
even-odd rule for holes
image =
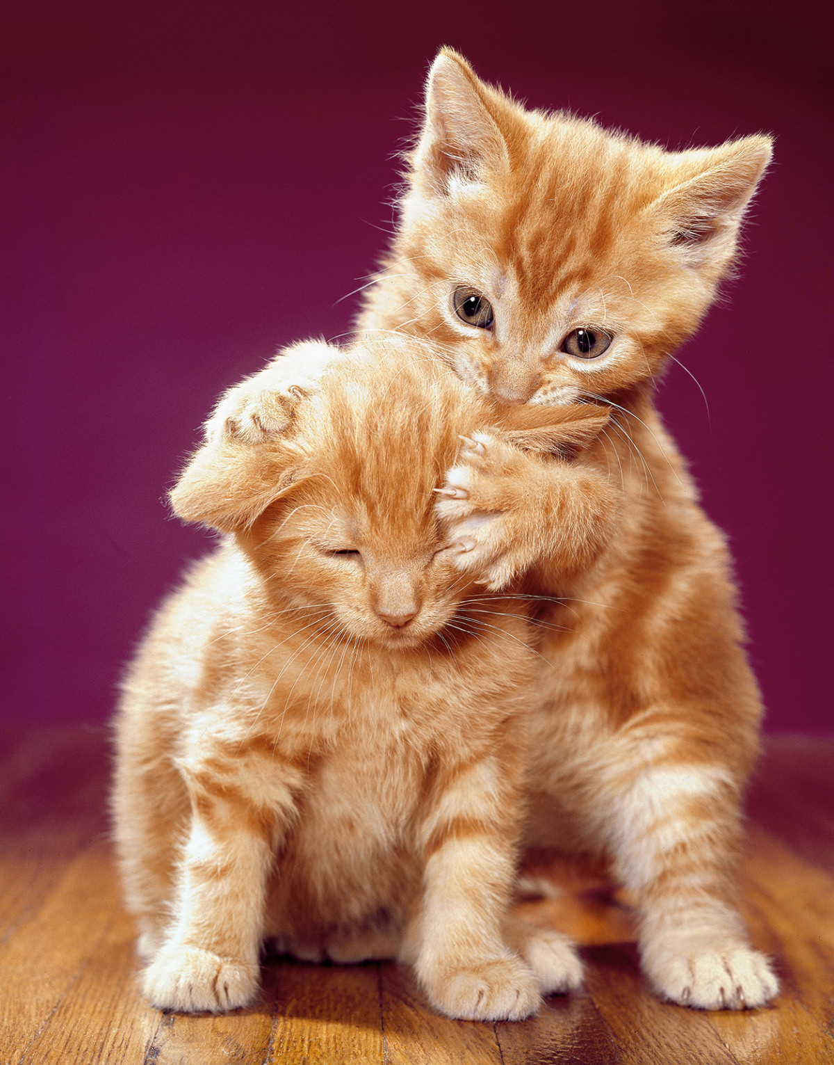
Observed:
[[[496,121],[502,98],[466,60],[441,48],[426,83],[426,118],[412,155],[414,181],[426,195],[446,195],[454,175],[473,178],[481,166],[507,163],[506,141]]]

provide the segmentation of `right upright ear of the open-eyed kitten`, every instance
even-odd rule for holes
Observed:
[[[688,263],[720,277],[732,260],[741,218],[772,155],[772,140],[749,136],[720,148],[681,152],[674,184],[653,204],[665,239]]]

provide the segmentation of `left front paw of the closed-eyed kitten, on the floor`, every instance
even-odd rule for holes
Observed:
[[[168,946],[145,970],[143,986],[157,1010],[226,1013],[252,1001],[257,969],[199,947]]]

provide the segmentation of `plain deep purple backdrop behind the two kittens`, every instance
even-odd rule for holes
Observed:
[[[531,105],[669,147],[775,133],[741,279],[679,356],[710,419],[679,368],[661,406],[731,536],[768,727],[830,731],[825,9],[302,6],[5,5],[3,712],[111,714],[205,543],[167,517],[173,472],[222,388],[350,328],[338,300],[383,248],[394,152],[451,44]]]

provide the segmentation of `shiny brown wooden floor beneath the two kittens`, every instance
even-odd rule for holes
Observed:
[[[272,962],[254,1007],[161,1014],[135,981],[104,813],[100,731],[0,735],[0,1063],[834,1063],[834,741],[771,742],[750,797],[744,910],[783,992],[751,1013],[665,1005],[640,979],[628,906],[553,866],[526,902],[583,946],[585,989],[517,1023],[437,1017],[394,964]]]

